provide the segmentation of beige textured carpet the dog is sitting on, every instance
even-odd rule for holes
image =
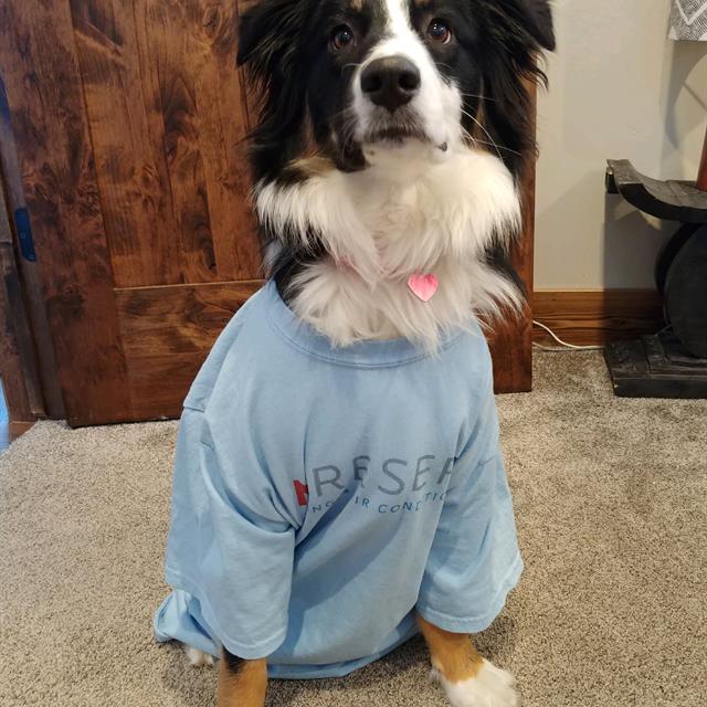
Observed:
[[[707,705],[707,401],[619,400],[597,354],[498,399],[526,573],[481,646],[526,707]],[[0,457],[0,705],[213,705],[152,642],[171,422],[38,424]],[[270,707],[442,706],[413,642]]]

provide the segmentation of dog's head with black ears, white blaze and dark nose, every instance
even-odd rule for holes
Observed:
[[[254,177],[313,152],[362,169],[410,144],[486,148],[517,176],[527,80],[553,44],[548,0],[260,0],[238,56],[262,92]]]

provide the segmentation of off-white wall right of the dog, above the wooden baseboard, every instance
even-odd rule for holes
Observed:
[[[555,0],[558,50],[540,92],[536,289],[652,287],[674,232],[604,193],[608,158],[695,179],[707,42],[667,39],[669,0]]]

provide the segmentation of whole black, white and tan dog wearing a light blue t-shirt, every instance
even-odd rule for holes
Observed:
[[[468,634],[518,581],[488,350],[535,150],[547,0],[261,0],[267,285],[184,403],[160,641],[220,655],[220,707],[345,675],[415,633],[456,707],[513,707]]]

